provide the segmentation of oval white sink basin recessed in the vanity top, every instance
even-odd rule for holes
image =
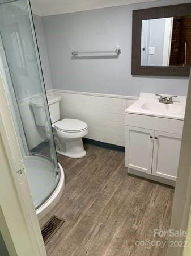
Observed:
[[[141,108],[160,113],[180,113],[183,110],[183,106],[180,104],[164,104],[159,102],[146,102]]]

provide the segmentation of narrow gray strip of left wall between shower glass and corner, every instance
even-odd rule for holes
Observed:
[[[39,46],[40,60],[41,60],[41,65],[43,69],[45,87],[46,87],[46,90],[49,90],[49,89],[52,89],[52,79],[50,76],[50,68],[49,68],[48,55],[46,50],[43,23],[42,23],[41,17],[35,14],[33,14],[33,20],[35,25],[37,43]]]

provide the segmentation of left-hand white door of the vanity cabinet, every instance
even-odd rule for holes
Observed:
[[[154,131],[126,126],[126,167],[151,174]]]

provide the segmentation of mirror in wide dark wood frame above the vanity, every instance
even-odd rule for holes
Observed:
[[[189,76],[191,3],[133,11],[132,75]]]

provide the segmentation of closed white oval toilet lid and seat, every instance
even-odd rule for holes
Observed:
[[[63,119],[54,123],[54,128],[61,130],[61,131],[82,131],[87,129],[87,124],[83,121],[78,119]]]

